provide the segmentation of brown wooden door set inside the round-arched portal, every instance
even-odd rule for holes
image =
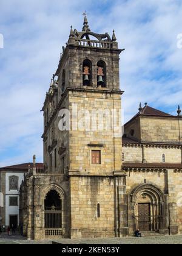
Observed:
[[[150,230],[150,204],[138,204],[138,226],[141,231]]]

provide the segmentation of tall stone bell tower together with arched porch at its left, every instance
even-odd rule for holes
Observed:
[[[55,233],[70,238],[127,235],[119,70],[123,50],[114,31],[112,38],[93,33],[86,16],[83,30],[71,27],[62,49],[42,108],[45,173],[33,172],[27,180],[29,195],[34,193],[29,209],[33,204],[35,211],[29,213],[34,219],[28,221],[28,233],[35,239]],[[51,214],[59,221],[49,223]]]

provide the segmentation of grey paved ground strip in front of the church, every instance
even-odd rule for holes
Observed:
[[[182,244],[182,235],[147,236],[143,238],[95,238],[54,240],[61,244]],[[28,241],[22,236],[0,236],[0,244],[52,244],[52,240]]]

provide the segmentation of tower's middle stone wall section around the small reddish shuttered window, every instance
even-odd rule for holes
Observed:
[[[70,131],[70,170],[79,171],[79,174],[99,174],[107,175],[113,174],[113,171],[121,170],[121,156],[122,156],[122,143],[121,143],[121,96],[120,94],[111,94],[106,92],[88,91],[88,92],[70,92],[69,94],[70,112],[72,113],[75,104],[77,113],[83,110],[86,111],[85,124],[90,124],[83,130]],[[111,113],[113,108],[116,110],[117,127],[114,130],[112,127]],[[92,113],[99,110],[109,111],[110,116],[104,115],[105,123],[111,121],[110,129],[99,128],[99,118],[97,118],[97,127],[92,129],[93,118]],[[90,119],[88,116],[90,115]],[[71,116],[74,123],[80,121],[81,116]],[[95,146],[95,145],[100,146]],[[91,151],[101,150],[101,165],[92,165]]]

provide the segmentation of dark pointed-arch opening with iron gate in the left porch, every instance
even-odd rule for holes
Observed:
[[[47,193],[44,200],[45,210],[45,229],[62,228],[62,201],[56,190]]]

